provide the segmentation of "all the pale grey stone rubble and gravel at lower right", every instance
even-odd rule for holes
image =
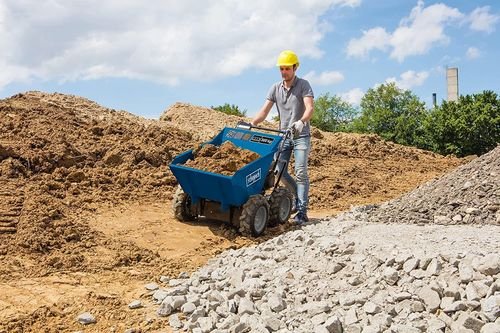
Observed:
[[[381,207],[224,252],[152,291],[157,314],[196,333],[498,333],[499,153]]]

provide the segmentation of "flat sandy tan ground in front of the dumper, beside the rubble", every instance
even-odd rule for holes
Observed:
[[[310,213],[313,221],[330,215],[326,211]],[[127,328],[170,332],[167,321],[156,315],[158,306],[144,297],[148,293],[145,284],[160,283],[163,274],[177,276],[181,272],[192,272],[225,249],[247,246],[293,228],[277,227],[259,240],[247,239],[236,236],[223,222],[179,222],[173,217],[169,203],[103,208],[89,219],[89,226],[110,239],[120,238],[158,253],[158,266],[99,272],[60,271],[2,282],[0,323],[11,323],[9,332],[16,329],[106,332],[113,328],[117,332]],[[96,253],[101,259],[112,256],[105,248]],[[127,304],[135,299],[142,300],[143,308],[128,309]],[[86,311],[96,316],[97,323],[83,328],[75,318]],[[152,323],[148,324],[148,320]]]

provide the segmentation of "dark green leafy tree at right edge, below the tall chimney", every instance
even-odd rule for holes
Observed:
[[[500,142],[500,98],[493,91],[443,101],[425,122],[426,141],[440,154],[481,155]]]

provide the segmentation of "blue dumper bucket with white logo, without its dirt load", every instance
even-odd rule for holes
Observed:
[[[225,211],[229,206],[243,205],[250,196],[262,192],[281,140],[278,135],[226,127],[205,144],[220,146],[225,141],[231,141],[235,146],[251,150],[260,157],[234,175],[225,176],[184,166],[187,160],[194,159],[193,150],[188,150],[172,160],[170,169],[193,204],[200,199],[217,201]]]

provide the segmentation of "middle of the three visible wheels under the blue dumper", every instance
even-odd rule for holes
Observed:
[[[240,233],[259,237],[269,221],[269,203],[261,194],[252,195],[241,208]]]

